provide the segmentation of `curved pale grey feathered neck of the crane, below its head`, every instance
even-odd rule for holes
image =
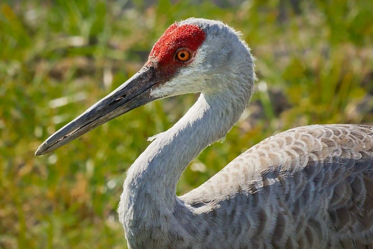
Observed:
[[[238,121],[251,96],[251,84],[201,93],[197,102],[169,130],[159,134],[127,172],[119,204],[126,230],[172,214],[179,205],[176,184],[189,163],[207,146],[223,138]],[[133,234],[135,236],[135,234]]]

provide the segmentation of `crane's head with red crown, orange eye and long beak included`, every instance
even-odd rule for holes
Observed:
[[[154,100],[232,87],[231,81],[225,80],[224,75],[235,77],[242,71],[247,84],[252,84],[255,78],[253,58],[246,43],[233,29],[222,22],[206,19],[189,18],[175,22],[154,44],[148,61],[140,71],[56,131],[38,147],[35,155],[57,149],[99,125]]]

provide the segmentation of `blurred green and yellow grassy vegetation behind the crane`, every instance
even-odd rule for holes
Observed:
[[[126,169],[196,95],[159,100],[41,157],[51,133],[133,75],[170,24],[219,19],[256,56],[252,105],[204,150],[178,194],[272,134],[373,124],[373,1],[1,1],[0,248],[125,248]]]

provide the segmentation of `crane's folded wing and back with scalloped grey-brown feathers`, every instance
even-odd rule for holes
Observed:
[[[180,199],[223,247],[372,248],[373,127],[285,131]]]

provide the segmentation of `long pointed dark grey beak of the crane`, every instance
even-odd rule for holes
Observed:
[[[160,78],[153,66],[144,66],[112,93],[48,137],[38,147],[35,156],[51,152],[123,113],[156,100],[150,91],[163,82]]]

